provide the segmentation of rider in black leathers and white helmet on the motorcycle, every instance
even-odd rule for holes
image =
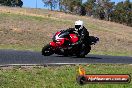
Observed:
[[[70,30],[70,29],[69,29]],[[69,44],[69,46],[79,46],[80,47],[80,54],[83,55],[82,57],[85,57],[85,50],[86,50],[86,45],[89,45],[91,43],[91,39],[89,37],[89,32],[87,29],[84,27],[83,21],[78,20],[75,21],[75,28],[71,28],[71,30],[74,30],[75,33],[77,33],[79,40],[76,43]],[[91,47],[89,47],[89,51],[91,50]]]

